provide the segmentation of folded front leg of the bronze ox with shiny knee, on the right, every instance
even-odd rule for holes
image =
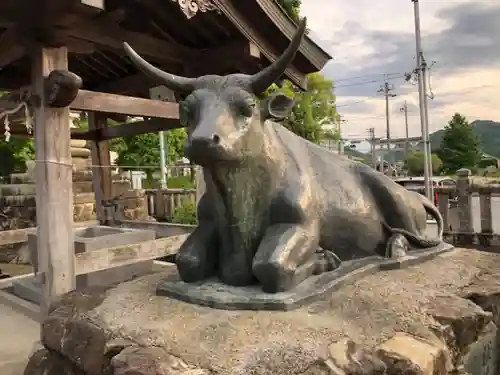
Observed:
[[[316,223],[275,224],[267,229],[252,271],[267,293],[289,290],[315,272],[319,243]]]

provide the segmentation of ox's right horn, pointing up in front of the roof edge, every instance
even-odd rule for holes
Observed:
[[[299,27],[285,52],[271,65],[250,77],[250,87],[254,94],[259,95],[263,93],[285,72],[299,50],[305,31],[306,18],[304,17],[300,21]]]

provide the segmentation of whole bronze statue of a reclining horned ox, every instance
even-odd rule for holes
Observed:
[[[251,76],[180,77],[125,43],[141,71],[184,95],[186,156],[203,167],[198,225],[176,257],[185,282],[218,277],[276,293],[341,261],[442,242],[442,217],[425,197],[272,121],[290,113],[291,98],[257,99],[284,74],[305,29],[303,20],[286,51]],[[439,225],[436,240],[423,235],[427,213]]]

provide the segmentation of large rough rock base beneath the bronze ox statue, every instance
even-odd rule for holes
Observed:
[[[293,311],[157,296],[175,273],[64,296],[25,375],[500,373],[498,254],[455,249]]]

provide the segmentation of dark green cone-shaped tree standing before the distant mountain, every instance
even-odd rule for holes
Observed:
[[[438,155],[443,169],[455,173],[460,168],[476,167],[481,160],[480,142],[467,119],[455,113],[444,128]]]

